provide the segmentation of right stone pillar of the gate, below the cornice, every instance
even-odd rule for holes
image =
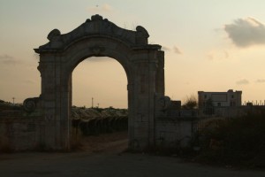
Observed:
[[[133,149],[144,149],[154,145],[154,97],[155,97],[155,63],[148,55],[134,62],[133,83]]]

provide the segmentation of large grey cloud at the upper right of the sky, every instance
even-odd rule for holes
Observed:
[[[254,18],[236,19],[224,25],[224,30],[238,47],[265,44],[265,26]]]

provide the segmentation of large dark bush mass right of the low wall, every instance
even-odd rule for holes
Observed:
[[[265,167],[265,110],[237,119],[213,119],[199,135],[198,161]]]

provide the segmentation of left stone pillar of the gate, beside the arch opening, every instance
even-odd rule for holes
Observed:
[[[69,150],[72,105],[72,74],[62,69],[60,58],[41,56],[42,73],[42,146],[46,150]]]

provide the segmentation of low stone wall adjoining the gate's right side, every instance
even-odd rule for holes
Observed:
[[[197,118],[155,119],[155,144],[172,148],[189,147],[198,122]]]

